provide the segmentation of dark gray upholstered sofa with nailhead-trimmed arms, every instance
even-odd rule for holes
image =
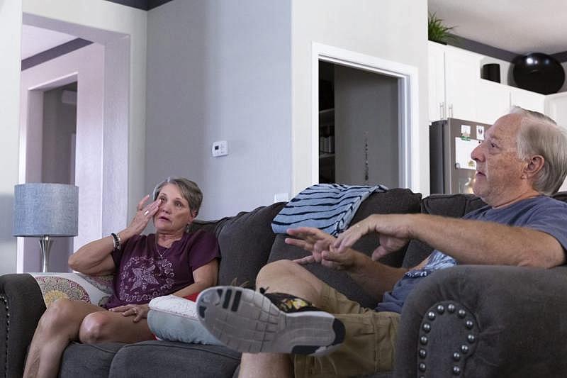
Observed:
[[[556,195],[567,201],[567,194]],[[483,205],[471,195],[425,199],[407,189],[372,194],[354,221],[371,213],[433,213],[463,216]],[[305,255],[274,235],[270,222],[283,203],[193,228],[214,232],[220,244],[220,284],[253,283],[259,269],[280,259]],[[371,253],[374,235],[355,248]],[[412,240],[386,257],[410,267],[431,251]],[[374,307],[344,272],[309,267],[325,282]],[[567,268],[529,269],[459,266],[434,274],[410,295],[398,334],[395,370],[371,377],[563,377],[567,374]],[[41,291],[29,274],[0,277],[0,372],[20,377],[30,339],[45,311]],[[235,377],[240,355],[228,348],[167,341],[136,344],[72,343],[62,357],[60,377]]]

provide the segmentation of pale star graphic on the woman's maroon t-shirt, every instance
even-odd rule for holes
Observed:
[[[137,303],[150,301],[172,291],[175,281],[172,262],[151,256],[132,257],[120,273],[119,297]]]

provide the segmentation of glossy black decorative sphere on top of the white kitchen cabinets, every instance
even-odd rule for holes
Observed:
[[[514,80],[518,87],[541,94],[556,93],[565,81],[561,64],[541,52],[517,57],[514,60]]]

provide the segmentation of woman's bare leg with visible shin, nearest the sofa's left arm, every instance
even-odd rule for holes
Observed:
[[[84,317],[97,311],[105,310],[69,299],[59,299],[47,307],[35,328],[23,377],[57,377],[63,350],[77,340]]]

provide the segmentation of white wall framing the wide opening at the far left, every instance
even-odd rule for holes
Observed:
[[[127,192],[121,201],[113,204],[118,216],[109,229],[124,227],[135,211],[135,205],[144,192],[145,162],[145,80],[146,80],[146,27],[147,12],[100,0],[0,0],[0,46],[2,59],[0,72],[0,100],[3,138],[0,145],[0,164],[3,179],[0,184],[0,209],[5,214],[0,220],[0,273],[16,272],[16,238],[11,236],[13,185],[18,183],[18,128],[20,112],[21,26],[26,23],[52,28],[78,37],[93,40],[101,45],[111,45],[117,33],[128,40],[128,119],[116,118],[115,125],[126,127],[127,137],[119,139],[123,144],[124,158],[112,162],[125,174],[118,177],[115,188]],[[110,49],[113,51],[113,49]],[[107,51],[108,52],[108,51]],[[115,51],[116,52],[116,51]],[[111,60],[106,62],[111,64]],[[120,67],[123,69],[123,67]],[[103,77],[101,77],[101,80]],[[106,82],[105,89],[114,83]],[[80,101],[80,100],[79,100]],[[107,113],[112,104],[105,104]],[[120,104],[115,104],[120,106]],[[123,136],[123,135],[122,135]],[[107,162],[106,165],[111,165]],[[120,169],[117,169],[120,171]],[[14,176],[14,173],[16,174]],[[21,268],[20,268],[21,271]]]

